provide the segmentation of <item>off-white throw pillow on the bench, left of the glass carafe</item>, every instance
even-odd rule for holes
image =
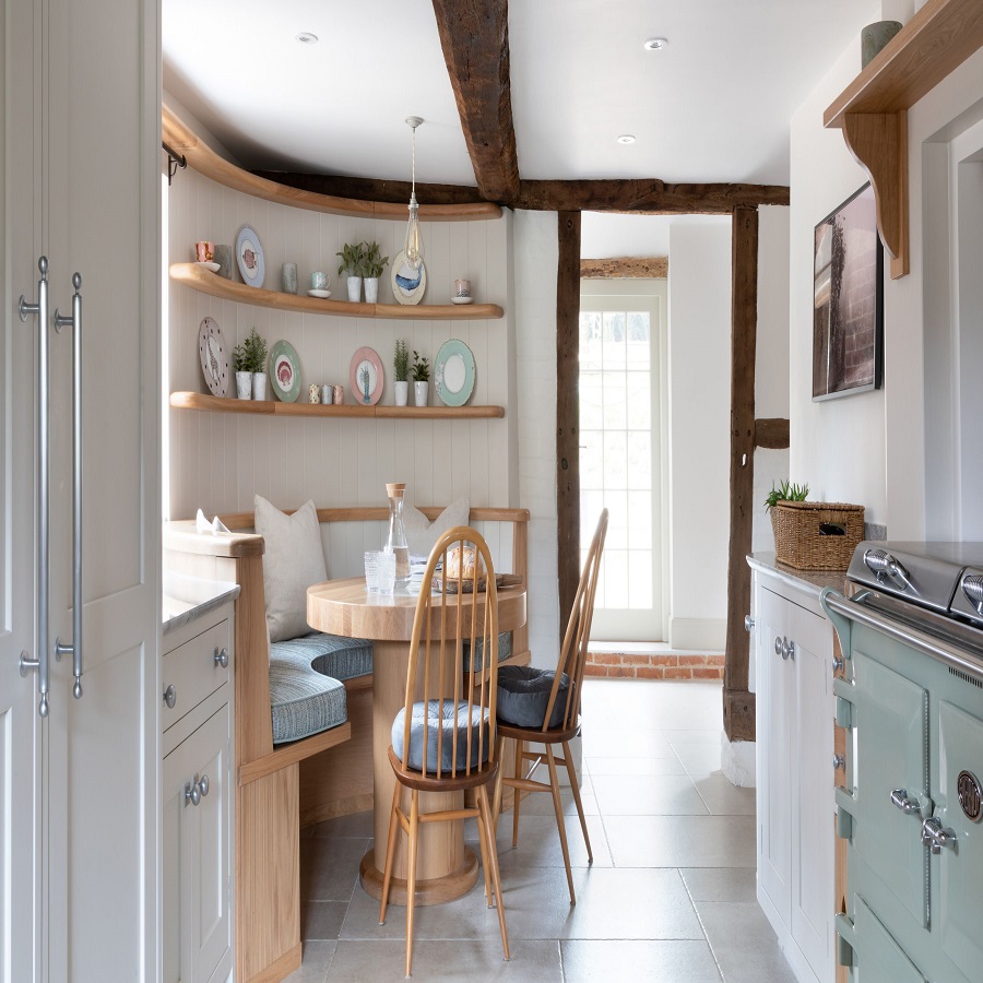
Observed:
[[[318,510],[307,501],[293,516],[256,496],[256,531],[267,541],[263,590],[270,641],[309,635],[307,589],[328,579]]]

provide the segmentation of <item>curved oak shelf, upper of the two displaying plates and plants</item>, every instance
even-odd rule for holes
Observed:
[[[170,279],[191,289],[251,304],[254,307],[272,307],[275,310],[295,310],[300,313],[343,315],[350,318],[392,318],[415,321],[478,321],[501,318],[505,311],[497,304],[352,304],[347,300],[319,300],[300,294],[282,294],[262,287],[234,283],[212,273],[198,263],[171,263]]]

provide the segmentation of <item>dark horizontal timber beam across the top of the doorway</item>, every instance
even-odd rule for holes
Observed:
[[[651,180],[522,181],[506,201],[546,212],[641,212],[653,215],[730,215],[735,208],[789,204],[779,185],[667,185]]]

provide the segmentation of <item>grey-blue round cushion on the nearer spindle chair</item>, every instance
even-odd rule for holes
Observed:
[[[457,706],[457,712],[455,712]],[[454,718],[458,721],[458,760],[457,767],[459,771],[464,770],[467,766],[467,727],[469,714],[467,702],[461,700],[454,704],[453,700],[443,701],[443,715],[440,715],[440,702],[438,700],[429,700],[424,703],[423,700],[413,704],[413,715],[410,723],[410,756],[407,766],[414,771],[423,771],[423,736],[424,730],[428,729],[427,734],[427,773],[437,773],[437,739],[440,731],[443,731],[440,746],[440,768],[441,771],[451,771],[454,760],[453,737],[454,737]],[[403,730],[406,720],[406,708],[404,707],[395,715],[392,722],[392,749],[398,758],[403,757]],[[481,762],[488,760],[488,710],[485,709],[482,714],[479,707],[471,708],[470,725],[472,730],[471,737],[471,767],[476,768]],[[479,731],[484,732],[484,736],[478,741]],[[478,759],[478,744],[481,743],[481,760]]]

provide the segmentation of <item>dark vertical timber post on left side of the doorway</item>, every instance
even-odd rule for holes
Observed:
[[[560,212],[557,224],[556,519],[562,640],[580,580],[580,212]]]

